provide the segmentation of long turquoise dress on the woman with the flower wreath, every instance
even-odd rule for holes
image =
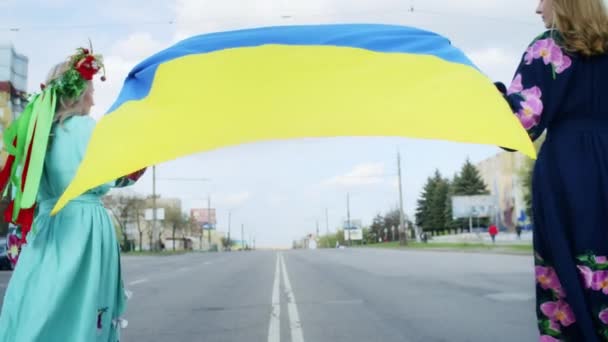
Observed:
[[[53,127],[33,229],[5,294],[0,342],[119,341],[126,296],[118,241],[101,197],[136,179],[92,189],[50,216],[94,127],[88,116]]]

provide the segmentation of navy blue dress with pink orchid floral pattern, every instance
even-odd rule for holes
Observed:
[[[560,41],[537,37],[497,85],[532,139],[547,131],[532,182],[540,341],[608,341],[608,55]]]

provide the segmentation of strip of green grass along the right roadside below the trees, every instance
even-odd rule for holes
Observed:
[[[419,243],[410,242],[407,246],[402,247],[399,242],[387,242],[371,245],[358,246],[361,248],[386,248],[386,249],[404,249],[404,250],[448,250],[448,251],[471,251],[471,252],[497,252],[497,253],[517,253],[517,254],[532,254],[532,245],[524,244],[484,244],[484,243],[449,243],[449,242],[432,242]]]

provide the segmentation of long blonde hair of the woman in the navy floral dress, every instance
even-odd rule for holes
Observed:
[[[608,13],[604,0],[553,0],[554,26],[564,48],[585,56],[608,51]]]

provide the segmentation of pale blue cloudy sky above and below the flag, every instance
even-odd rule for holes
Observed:
[[[131,68],[192,35],[270,25],[388,23],[448,37],[492,80],[508,83],[532,39],[543,31],[535,0],[0,0],[0,44],[29,58],[28,90],[47,71],[91,39],[104,55],[108,81],[96,83],[92,115],[100,118]],[[162,139],[162,137],[155,137]],[[192,155],[157,166],[157,192],[179,197],[183,210],[218,210],[218,229],[259,247],[288,246],[346,219],[364,224],[398,205],[401,154],[406,215],[435,169],[451,178],[469,158],[500,152],[494,146],[405,138],[329,138],[264,142]],[[152,192],[152,172],[128,191]],[[325,213],[328,213],[328,225]],[[238,233],[240,234],[240,233]],[[233,233],[234,236],[234,233]],[[239,237],[240,238],[240,237]]]

